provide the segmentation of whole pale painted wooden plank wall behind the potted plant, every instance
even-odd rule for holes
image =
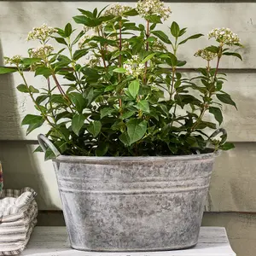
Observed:
[[[110,2],[108,2],[110,3]],[[0,1],[0,66],[3,56],[26,55],[26,49],[37,46],[26,42],[26,34],[33,26],[44,22],[50,26],[65,26],[78,14],[77,8],[101,9],[105,2],[29,2]],[[135,3],[127,3],[134,6]],[[224,152],[217,160],[212,175],[208,195],[208,212],[251,212],[248,226],[255,227],[256,215],[256,1],[169,1],[172,18],[169,23],[160,26],[167,32],[172,20],[180,26],[188,26],[189,33],[207,32],[215,27],[230,27],[238,33],[244,49],[239,50],[244,61],[225,59],[221,63],[228,73],[229,82],[225,84],[237,103],[238,111],[224,107],[224,127],[229,132],[230,141],[236,149]],[[74,25],[74,24],[73,24]],[[76,26],[76,25],[74,25]],[[195,73],[196,67],[204,63],[193,55],[204,47],[207,37],[190,42],[181,48],[180,59],[188,60],[183,72]],[[44,79],[34,79],[32,73],[26,73],[35,87],[44,88]],[[38,191],[40,210],[61,210],[61,201],[51,163],[44,162],[43,154],[32,154],[37,146],[38,131],[25,136],[20,120],[26,113],[36,113],[32,102],[24,94],[15,90],[20,84],[19,76],[0,77],[0,160],[3,162],[5,187],[21,188],[31,186]],[[44,133],[47,127],[40,130]],[[213,213],[212,213],[213,214]],[[220,213],[224,214],[224,213]],[[214,225],[214,214],[210,224]],[[226,218],[226,217],[224,217]],[[219,219],[219,215],[218,215]],[[216,222],[217,218],[216,218]],[[254,226],[253,226],[254,224]],[[238,229],[232,230],[232,237]],[[254,236],[256,230],[254,229]],[[253,232],[253,231],[252,231]],[[236,237],[236,242],[245,243]],[[254,256],[255,243],[250,243],[248,253],[243,254],[240,246],[239,256]]]

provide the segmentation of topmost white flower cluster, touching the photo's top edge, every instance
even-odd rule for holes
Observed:
[[[167,20],[172,14],[171,9],[160,0],[139,0],[136,9],[143,18],[148,15],[158,15],[161,19]]]

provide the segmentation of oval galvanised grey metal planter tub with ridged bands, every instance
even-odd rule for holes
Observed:
[[[53,160],[71,247],[158,251],[197,243],[212,154],[166,157],[60,155]]]

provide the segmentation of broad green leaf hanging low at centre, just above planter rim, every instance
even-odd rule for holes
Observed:
[[[140,140],[147,131],[147,121],[140,119],[131,119],[127,123],[127,133],[130,138],[130,144]]]

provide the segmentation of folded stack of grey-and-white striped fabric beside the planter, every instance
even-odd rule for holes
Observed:
[[[0,256],[16,255],[26,243],[37,223],[38,205],[33,189],[3,189],[0,194]]]

